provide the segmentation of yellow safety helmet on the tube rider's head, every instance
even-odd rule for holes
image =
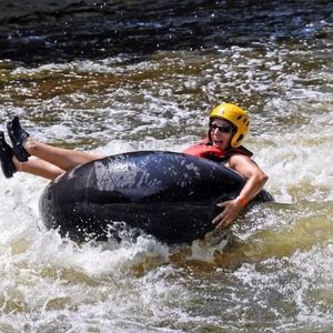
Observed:
[[[221,103],[210,113],[210,120],[213,118],[225,119],[236,127],[236,132],[231,139],[231,147],[240,147],[249,132],[249,113],[235,104]]]

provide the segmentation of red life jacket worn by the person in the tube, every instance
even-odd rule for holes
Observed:
[[[242,154],[251,158],[253,153],[243,145],[238,148],[230,148],[225,151],[219,149],[209,143],[208,140],[202,140],[183,151],[184,154],[189,154],[196,158],[204,158],[212,161],[223,162],[234,154]]]

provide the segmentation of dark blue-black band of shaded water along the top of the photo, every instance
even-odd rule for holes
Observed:
[[[0,50],[24,62],[248,47],[313,37],[332,19],[312,1],[0,1]]]

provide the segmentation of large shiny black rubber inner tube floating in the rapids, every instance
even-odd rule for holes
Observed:
[[[238,173],[206,159],[131,152],[56,179],[41,195],[40,211],[47,228],[77,241],[121,239],[123,230],[142,230],[162,242],[189,243],[214,229],[216,203],[235,198],[243,185]],[[254,199],[272,200],[266,191]]]

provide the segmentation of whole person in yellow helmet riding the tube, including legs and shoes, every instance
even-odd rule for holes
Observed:
[[[268,180],[266,174],[251,159],[252,153],[241,145],[249,132],[249,124],[248,112],[235,104],[222,103],[210,113],[208,138],[184,151],[186,154],[221,162],[246,180],[238,198],[218,204],[224,208],[213,220],[218,228],[230,226]],[[12,147],[4,141],[4,134],[0,131],[0,160],[6,178],[22,171],[53,180],[74,167],[104,158],[38,142],[21,128],[18,117],[8,122],[7,129]],[[39,159],[29,160],[30,155]]]

